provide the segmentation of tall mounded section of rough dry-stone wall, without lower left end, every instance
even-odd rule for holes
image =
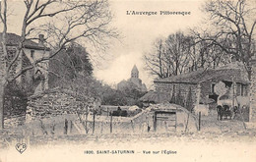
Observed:
[[[33,119],[43,119],[63,114],[85,113],[87,109],[93,109],[94,98],[78,99],[67,92],[51,92],[32,96],[29,98],[26,121]]]

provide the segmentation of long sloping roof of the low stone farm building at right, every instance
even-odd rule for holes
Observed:
[[[194,83],[208,81],[211,79],[222,79],[223,81],[236,81],[241,83],[248,83],[249,80],[246,77],[246,72],[240,67],[232,63],[228,66],[224,66],[218,69],[200,69],[198,71],[182,74],[179,76],[173,76],[154,82],[169,82],[169,83]]]

